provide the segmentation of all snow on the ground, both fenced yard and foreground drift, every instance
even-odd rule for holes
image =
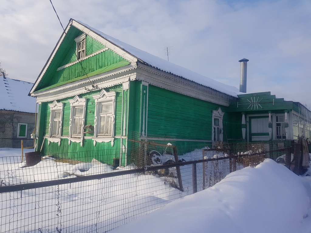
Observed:
[[[202,151],[192,155],[200,158]],[[21,168],[18,156],[20,149],[0,150],[0,159],[10,162],[10,167],[0,164],[1,180],[27,183],[111,172],[105,164],[51,159]],[[104,232],[117,226],[111,232],[311,232],[311,176],[299,177],[266,159],[186,196],[192,193],[190,169],[181,167],[185,192],[163,177],[132,174],[1,194],[1,232]],[[200,177],[202,166],[197,172]]]

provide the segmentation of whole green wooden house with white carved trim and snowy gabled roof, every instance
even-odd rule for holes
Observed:
[[[39,104],[37,151],[109,164],[117,158],[120,165],[128,164],[132,139],[174,138],[187,148],[291,139],[289,112],[301,117],[299,104],[243,94],[73,19],[30,95]],[[267,127],[254,131],[260,122]]]

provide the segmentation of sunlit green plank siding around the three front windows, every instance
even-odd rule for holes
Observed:
[[[117,85],[114,87],[111,87],[109,89],[105,89],[107,92],[109,91],[115,91],[116,92],[116,107],[115,107],[115,135],[121,136],[121,127],[122,127],[122,93],[123,88],[122,85]],[[94,126],[94,118],[95,118],[95,100],[93,98],[93,95],[99,94],[99,91],[94,91],[86,94],[79,95],[80,98],[86,98],[86,115],[85,115],[85,125],[93,125]],[[62,127],[62,137],[67,137],[69,135],[69,121],[70,121],[70,103],[68,99],[72,99],[74,96],[61,99],[59,102],[63,103],[63,127]],[[52,102],[49,102],[52,103]],[[49,117],[50,117],[50,108],[48,107],[49,103],[44,103],[43,105],[46,107],[41,107],[40,117],[42,117],[40,120],[40,123],[44,122],[43,124],[43,135],[46,137],[49,135]],[[126,104],[126,103],[125,103]],[[42,105],[42,104],[41,104]],[[124,108],[124,107],[123,107]],[[90,111],[90,112],[89,112]],[[86,134],[85,136],[92,136],[91,134]],[[123,140],[123,144],[126,144],[126,140]],[[84,139],[83,140],[83,146],[80,146],[80,143],[71,142],[70,145],[68,145],[68,139],[62,138],[61,144],[58,146],[58,143],[50,143],[48,145],[48,140],[44,140],[43,150],[42,154],[63,154],[65,153],[66,158],[81,160],[85,162],[90,162],[92,159],[91,157],[95,155],[97,156],[96,159],[101,162],[106,162],[109,164],[112,164],[113,158],[118,158],[120,154],[120,139],[115,138],[114,139],[114,145],[111,146],[111,143],[96,143],[95,147],[93,144],[92,139]],[[41,143],[38,143],[38,147],[41,147]],[[38,148],[39,149],[39,148]],[[101,150],[107,150],[106,153],[101,152]],[[95,152],[94,152],[95,151]],[[96,153],[96,151],[98,153]],[[85,153],[85,159],[83,160],[82,154]],[[67,154],[66,154],[67,153]],[[89,154],[89,155],[88,155]],[[64,158],[65,158],[64,157]],[[90,157],[90,158],[88,158]],[[125,156],[123,155],[123,164],[125,162],[124,160]],[[90,161],[89,161],[90,160]]]

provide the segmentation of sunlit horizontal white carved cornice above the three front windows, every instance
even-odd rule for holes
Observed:
[[[92,77],[85,78],[82,80],[77,80],[72,83],[68,83],[59,87],[51,88],[42,92],[32,93],[31,96],[37,98],[37,103],[59,100],[63,98],[72,97],[79,94],[84,94],[90,92],[90,90],[99,90],[103,88],[109,88],[115,85],[120,85],[125,82],[136,79],[136,63],[129,64],[127,69],[120,67],[120,69],[114,70],[114,72],[106,72],[99,75],[94,75]],[[121,69],[123,68],[123,69]],[[122,76],[119,76],[123,74]],[[91,83],[95,85],[95,89],[91,88]],[[89,89],[89,87],[91,89]]]

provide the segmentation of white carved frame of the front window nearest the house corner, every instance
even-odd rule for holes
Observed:
[[[106,92],[101,90],[100,94],[93,96],[95,100],[95,118],[94,118],[94,146],[96,142],[111,142],[111,146],[114,144],[114,123],[115,123],[115,98],[116,93],[114,91]],[[99,118],[100,118],[100,105],[102,103],[112,103],[112,115],[111,115],[111,135],[98,135],[99,134]]]

